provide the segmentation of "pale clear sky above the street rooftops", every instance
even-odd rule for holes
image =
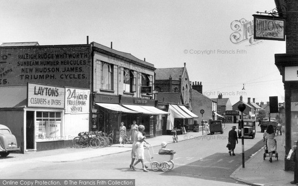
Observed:
[[[96,42],[154,64],[183,67],[202,82],[210,98],[239,97],[284,102],[274,54],[285,41],[233,36],[237,22],[250,23],[274,0],[0,0],[0,44],[38,42],[71,45]],[[234,30],[233,30],[233,29]],[[232,35],[232,36],[231,36]],[[243,39],[244,38],[244,39]],[[243,40],[243,41],[242,41]],[[241,41],[241,42],[239,42]],[[243,85],[244,84],[244,85]],[[245,90],[244,90],[244,89]],[[243,90],[242,90],[243,89]]]

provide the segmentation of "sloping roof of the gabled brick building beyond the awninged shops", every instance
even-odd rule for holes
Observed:
[[[156,68],[155,70],[155,80],[165,80],[169,79],[171,75],[172,80],[179,80],[183,75],[184,67],[177,68]]]

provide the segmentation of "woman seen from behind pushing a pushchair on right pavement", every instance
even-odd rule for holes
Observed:
[[[267,149],[270,156],[270,159],[269,159],[270,163],[272,162],[273,151],[276,151],[276,143],[274,138],[277,135],[278,134],[274,131],[273,125],[269,124],[267,126],[266,131],[264,132],[263,139],[264,141],[267,139]]]

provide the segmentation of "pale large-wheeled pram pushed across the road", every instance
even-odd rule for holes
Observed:
[[[151,169],[153,171],[158,171],[161,169],[165,172],[174,168],[174,162],[172,161],[174,154],[155,154],[153,147],[150,144],[148,145],[148,155],[146,155],[146,159],[150,162]]]

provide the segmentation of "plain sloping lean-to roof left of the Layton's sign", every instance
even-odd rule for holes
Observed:
[[[22,108],[27,105],[27,86],[0,87],[0,108]]]

